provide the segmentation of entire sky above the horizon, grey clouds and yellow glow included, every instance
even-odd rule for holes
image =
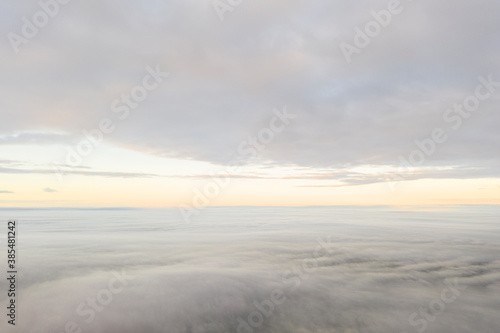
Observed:
[[[0,207],[500,204],[498,1],[0,9]]]

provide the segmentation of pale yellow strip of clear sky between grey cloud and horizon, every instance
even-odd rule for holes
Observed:
[[[89,172],[138,173],[127,177],[66,174],[50,164],[61,146],[2,146],[6,160],[24,161],[25,173],[0,174],[2,207],[171,207],[171,206],[305,206],[500,204],[500,179],[420,179],[340,186],[317,179],[324,169],[253,165],[237,168],[237,178],[211,178],[226,166],[163,158],[103,145],[82,163]],[[64,151],[64,150],[62,150]],[[29,160],[26,157],[29,156]],[[22,163],[21,163],[22,164]],[[380,168],[353,168],[368,177]],[[65,169],[69,170],[69,169]],[[79,169],[84,170],[84,169]],[[351,170],[352,171],[352,170]],[[342,170],[345,172],[345,170]],[[155,176],[142,176],[154,174]],[[245,178],[242,178],[245,177]],[[347,184],[348,185],[348,184]],[[337,186],[337,187],[335,187]]]

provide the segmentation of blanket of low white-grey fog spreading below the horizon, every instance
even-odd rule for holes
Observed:
[[[484,218],[474,209],[485,207],[410,215],[311,209],[211,209],[189,227],[169,210],[81,210],[70,212],[73,219],[64,225],[51,216],[65,212],[38,212],[43,228],[25,224],[33,240],[24,250],[19,298],[30,320],[20,320],[16,329],[59,332],[74,321],[96,333],[237,332],[238,318],[248,320],[259,311],[255,304],[266,304],[277,289],[286,301],[263,315],[254,332],[410,332],[421,327],[411,325],[413,313],[426,318],[420,308],[435,317],[429,332],[494,332],[500,324],[500,248],[496,221],[488,218],[498,207],[488,208]],[[26,220],[33,212],[18,215]],[[441,220],[446,223],[434,223]],[[79,232],[60,237],[47,228]],[[86,322],[76,309],[82,303],[90,309],[89,299],[106,299],[102,290],[122,272],[133,279]],[[455,279],[460,295],[436,315],[430,304],[452,296],[443,290]],[[7,326],[0,322],[14,332]]]

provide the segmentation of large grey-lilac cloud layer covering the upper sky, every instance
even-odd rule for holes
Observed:
[[[0,100],[9,111],[0,133],[5,143],[69,142],[107,117],[116,131],[106,140],[116,146],[227,163],[273,108],[286,105],[296,120],[262,152],[277,164],[394,165],[440,127],[449,139],[426,166],[486,166],[500,175],[491,154],[500,148],[498,93],[457,131],[443,120],[474,92],[478,76],[500,80],[500,4],[405,2],[348,65],[339,43],[352,42],[354,28],[386,7],[367,0],[247,3],[220,22],[210,1],[64,6],[53,28],[21,46],[21,57],[1,41]],[[10,4],[0,28],[19,32],[33,10]],[[156,64],[171,76],[119,120],[113,101]],[[481,176],[476,170],[471,177]]]

